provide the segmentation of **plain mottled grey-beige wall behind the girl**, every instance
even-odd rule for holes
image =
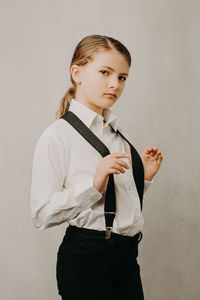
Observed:
[[[1,299],[60,299],[55,265],[66,225],[32,225],[32,156],[69,87],[74,47],[94,33],[130,50],[113,111],[140,153],[151,145],[164,156],[144,201],[145,299],[200,299],[199,12],[197,0],[0,1]]]

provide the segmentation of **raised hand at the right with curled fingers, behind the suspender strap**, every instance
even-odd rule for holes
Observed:
[[[127,143],[127,153],[129,154],[129,162],[131,163],[131,149]],[[158,147],[147,147],[141,154],[141,159],[144,166],[144,179],[151,181],[158,172],[163,160],[163,156]]]

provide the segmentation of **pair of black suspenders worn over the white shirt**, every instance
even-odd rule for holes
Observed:
[[[63,118],[71,126],[73,126],[103,157],[110,154],[110,151],[106,147],[106,145],[72,111],[66,112],[60,118]],[[119,130],[117,130],[117,133],[120,134],[129,143],[131,147],[133,176],[134,176],[136,188],[140,198],[140,205],[142,209],[142,200],[143,200],[143,191],[144,191],[143,163],[140,158],[140,155],[133,147],[133,145],[122,135],[122,133],[119,132]],[[114,188],[114,177],[113,174],[110,174],[107,189],[106,189],[105,202],[104,202],[106,239],[110,238],[115,212],[116,212],[116,197],[115,197],[115,188]]]

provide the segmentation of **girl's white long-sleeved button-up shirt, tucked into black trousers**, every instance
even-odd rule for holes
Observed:
[[[110,127],[115,131],[119,129],[127,137],[111,109],[105,109],[102,116],[72,99],[69,110],[98,136],[110,153],[127,152],[126,141]],[[101,158],[101,154],[63,118],[43,131],[36,143],[32,164],[30,202],[36,228],[44,230],[66,222],[67,226],[105,230],[105,192],[100,193],[93,185]],[[130,166],[128,158],[120,159]],[[142,229],[144,220],[132,167],[124,170],[125,173],[113,174],[116,215],[112,231],[133,236]],[[145,180],[144,193],[152,181]]]

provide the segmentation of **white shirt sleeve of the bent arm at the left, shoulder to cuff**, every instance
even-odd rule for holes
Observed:
[[[66,188],[66,147],[51,135],[42,135],[35,147],[30,191],[31,217],[39,230],[73,219],[99,201],[103,193],[93,175]]]

